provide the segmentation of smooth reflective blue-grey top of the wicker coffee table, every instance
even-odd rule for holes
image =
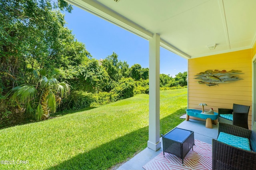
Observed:
[[[191,133],[191,131],[176,127],[175,129],[164,135],[164,138],[182,143]]]

